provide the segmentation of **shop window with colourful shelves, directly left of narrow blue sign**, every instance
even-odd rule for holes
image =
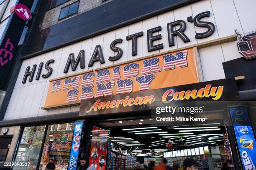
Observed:
[[[61,129],[59,129],[59,127],[61,127]],[[56,170],[67,170],[72,146],[74,123],[49,125],[48,129],[39,170],[45,170],[49,162],[55,164]]]

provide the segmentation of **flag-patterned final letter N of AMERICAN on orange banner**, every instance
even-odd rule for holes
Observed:
[[[169,54],[164,55],[164,70],[175,69],[175,65],[178,67],[187,67],[187,51],[177,52],[176,56]]]

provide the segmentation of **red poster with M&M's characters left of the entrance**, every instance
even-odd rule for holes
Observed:
[[[96,170],[105,170],[107,156],[108,130],[92,128],[92,144],[89,165]]]

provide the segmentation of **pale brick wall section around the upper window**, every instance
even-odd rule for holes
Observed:
[[[77,14],[74,14],[72,16],[69,16],[67,18],[63,18],[63,19],[59,20],[59,14],[61,12],[61,8],[65,7],[69,4],[72,4],[74,2],[77,2],[77,1],[80,1]],[[112,1],[112,0],[108,0],[108,1],[103,2],[103,3],[102,3],[102,0],[69,0],[68,2],[65,2],[65,3],[63,3],[63,4],[61,4],[57,7],[54,7],[51,10],[48,10],[46,12],[46,14],[44,16],[43,24],[41,26],[41,30],[43,30],[47,27],[50,27],[51,25],[60,23],[64,20],[68,20],[69,18],[72,18],[72,17],[74,17],[76,15],[79,15],[81,13],[84,13],[88,10],[92,10],[93,8],[98,7],[100,5],[103,5],[105,3],[108,3],[110,1]]]

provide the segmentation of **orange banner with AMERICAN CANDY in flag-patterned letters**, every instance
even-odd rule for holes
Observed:
[[[43,109],[198,82],[193,48],[50,82]]]

